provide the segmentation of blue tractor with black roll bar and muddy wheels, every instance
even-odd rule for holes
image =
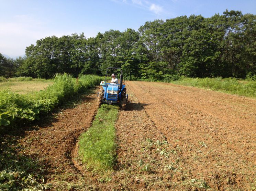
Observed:
[[[120,84],[107,83],[108,69],[120,69]],[[123,83],[123,75],[121,68],[108,67],[106,71],[105,81],[100,83],[100,91],[98,93],[98,104],[120,104],[122,110],[125,110],[128,94],[126,94],[125,84]]]

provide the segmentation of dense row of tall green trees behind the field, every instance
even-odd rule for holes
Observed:
[[[0,75],[51,78],[66,72],[76,77],[121,67],[126,79],[245,78],[256,75],[255,24],[254,14],[226,10],[210,18],[149,21],[138,31],[109,30],[93,38],[84,33],[46,37],[26,47],[26,58],[0,55]]]

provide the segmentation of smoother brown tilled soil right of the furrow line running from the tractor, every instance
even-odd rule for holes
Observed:
[[[255,189],[256,100],[167,83],[127,84],[156,130],[179,148],[177,183]]]

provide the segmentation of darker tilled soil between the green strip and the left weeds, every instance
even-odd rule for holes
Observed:
[[[77,139],[90,127],[97,112],[97,90],[84,95],[77,106],[55,113],[52,119],[42,122],[42,126],[25,131],[24,138],[18,140],[26,148],[22,153],[44,161],[46,182],[78,180],[80,171],[75,168],[72,157]]]

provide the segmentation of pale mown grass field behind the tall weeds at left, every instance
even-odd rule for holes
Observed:
[[[5,81],[0,83],[0,90],[10,89],[15,93],[31,93],[33,91],[44,90],[52,85],[53,80],[33,79],[31,81]]]

